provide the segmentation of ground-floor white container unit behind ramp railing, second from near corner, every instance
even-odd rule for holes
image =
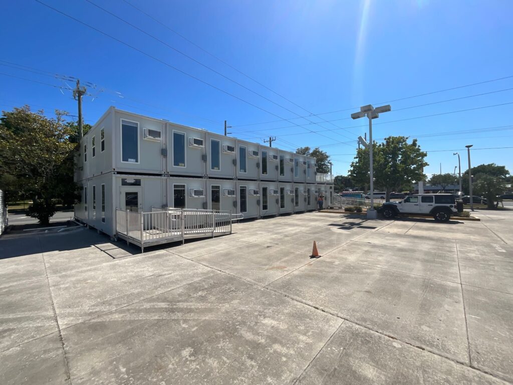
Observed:
[[[167,207],[207,209],[207,180],[167,177]]]

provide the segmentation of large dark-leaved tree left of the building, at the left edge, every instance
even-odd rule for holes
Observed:
[[[0,119],[0,188],[31,197],[29,215],[41,224],[55,214],[56,199],[72,203],[77,198],[73,131],[64,112],[56,110],[55,116],[49,119],[24,106],[3,111]]]

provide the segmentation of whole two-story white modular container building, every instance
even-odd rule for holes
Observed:
[[[115,235],[115,210],[229,210],[244,218],[300,213],[332,199],[315,159],[110,107],[84,136],[75,218]]]

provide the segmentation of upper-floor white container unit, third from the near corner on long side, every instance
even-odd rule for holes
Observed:
[[[234,178],[237,157],[235,139],[206,133],[207,175],[209,178]]]

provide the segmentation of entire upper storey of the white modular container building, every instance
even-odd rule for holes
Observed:
[[[106,172],[315,183],[315,159],[110,107],[80,143],[76,181]]]

